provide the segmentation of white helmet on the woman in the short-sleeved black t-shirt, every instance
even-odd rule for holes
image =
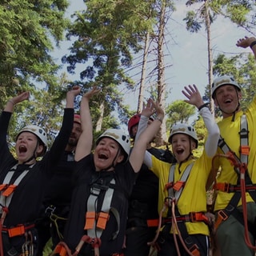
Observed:
[[[112,138],[114,141],[118,142],[128,157],[130,154],[130,136],[128,134],[125,134],[124,131],[119,129],[108,129],[98,137],[96,144],[98,145],[98,142],[104,137]]]

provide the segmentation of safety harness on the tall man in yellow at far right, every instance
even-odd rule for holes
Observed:
[[[226,206],[224,210],[218,211],[218,217],[215,222],[214,228],[215,230],[218,228],[219,224],[223,221],[226,221],[229,218],[230,214],[234,216],[241,222],[245,227],[245,242],[246,245],[251,249],[256,250],[256,247],[253,246],[250,242],[249,232],[254,235],[255,231],[254,226],[250,225],[247,222],[247,207],[246,207],[246,192],[250,194],[250,197],[256,202],[256,184],[250,179],[247,164],[248,164],[248,156],[250,153],[250,147],[248,146],[248,124],[246,120],[246,114],[242,114],[241,123],[240,123],[240,158],[233,151],[230,150],[230,147],[227,146],[226,142],[223,138],[219,139],[218,146],[222,149],[224,156],[228,158],[231,162],[231,165],[234,166],[234,171],[238,174],[238,182],[236,185],[232,185],[229,183],[217,183],[214,185],[216,190],[221,190],[226,193],[234,193],[230,202]],[[242,214],[238,211],[238,202],[242,199]]]

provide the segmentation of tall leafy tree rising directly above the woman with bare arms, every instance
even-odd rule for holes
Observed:
[[[110,110],[118,110],[121,120],[127,121],[127,107],[122,104],[121,85],[131,88],[134,82],[126,75],[132,63],[133,50],[138,52],[140,32],[147,30],[147,22],[140,10],[147,2],[138,1],[85,1],[86,10],[74,14],[67,38],[75,38],[71,54],[64,56],[68,71],[73,73],[79,63],[86,64],[80,73],[86,87],[102,86],[105,97],[101,99],[102,111],[98,116],[97,129],[102,130],[103,119]],[[126,116],[127,118],[123,118]]]

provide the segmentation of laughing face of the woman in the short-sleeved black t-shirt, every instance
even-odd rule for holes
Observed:
[[[96,170],[114,170],[118,162],[122,162],[124,155],[118,142],[112,138],[103,137],[94,151],[94,165]],[[111,167],[110,167],[111,166]],[[110,169],[108,169],[110,167]]]

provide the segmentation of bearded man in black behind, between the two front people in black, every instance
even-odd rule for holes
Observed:
[[[74,151],[81,134],[80,115],[74,114],[73,129],[68,143],[66,144],[66,149],[62,153],[62,158],[58,166],[53,170],[53,178],[51,178],[46,186],[46,194],[43,202],[46,222],[41,224],[42,247],[50,237],[52,238],[53,248],[62,240],[66,218],[70,211],[70,201],[73,190],[72,173],[74,169]]]

